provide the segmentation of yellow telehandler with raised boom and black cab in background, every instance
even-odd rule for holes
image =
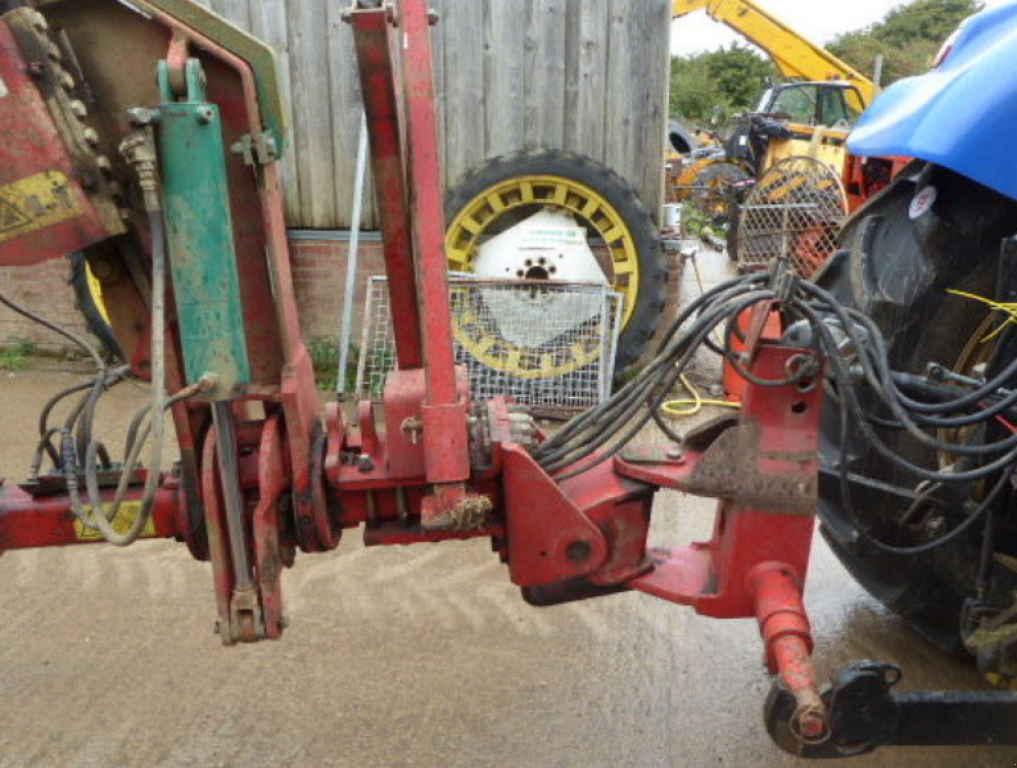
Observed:
[[[787,81],[767,88],[722,149],[684,157],[676,199],[723,206],[726,185],[759,178],[792,156],[814,157],[841,173],[847,134],[876,97],[876,83],[754,0],[673,0],[671,15],[700,10],[766,52]]]

